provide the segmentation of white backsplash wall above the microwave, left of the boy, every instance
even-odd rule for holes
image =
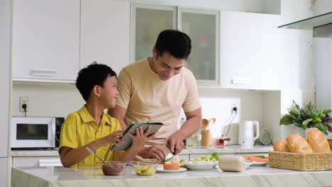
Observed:
[[[19,97],[29,98],[27,116],[67,117],[84,105],[84,99],[74,84],[14,84],[12,94],[12,116],[23,116],[19,112]]]

